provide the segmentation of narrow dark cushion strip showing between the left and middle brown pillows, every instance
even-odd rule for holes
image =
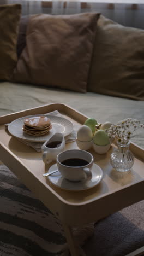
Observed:
[[[17,56],[20,57],[22,50],[26,47],[26,32],[29,16],[23,16],[20,19],[19,33],[17,38]]]

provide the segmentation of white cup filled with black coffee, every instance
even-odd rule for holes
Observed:
[[[85,181],[86,179],[91,179],[93,161],[92,154],[85,150],[71,149],[57,155],[58,170],[69,181]]]

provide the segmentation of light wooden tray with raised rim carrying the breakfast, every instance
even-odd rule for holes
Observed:
[[[112,214],[144,198],[144,150],[131,143],[130,149],[135,155],[133,169],[120,173],[112,169],[109,159],[116,146],[112,144],[109,152],[103,155],[89,150],[94,161],[104,172],[103,180],[92,189],[85,191],[68,191],[50,184],[42,176],[53,164],[45,165],[41,153],[35,152],[5,131],[5,123],[32,114],[45,114],[58,110],[79,127],[87,119],[65,104],[48,104],[46,106],[0,117],[0,159],[19,177],[26,186],[49,208],[63,223],[69,226],[81,226]],[[78,149],[76,142],[68,143],[67,149]],[[71,218],[71,216],[73,216]]]

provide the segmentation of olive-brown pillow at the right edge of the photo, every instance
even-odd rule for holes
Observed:
[[[144,100],[144,30],[100,16],[88,91]]]

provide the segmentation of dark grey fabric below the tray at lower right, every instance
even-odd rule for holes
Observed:
[[[95,225],[94,236],[85,245],[89,256],[125,256],[144,245],[144,200]],[[141,254],[141,256],[143,256]]]

